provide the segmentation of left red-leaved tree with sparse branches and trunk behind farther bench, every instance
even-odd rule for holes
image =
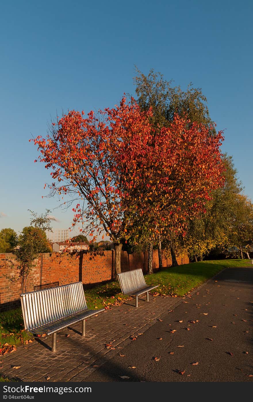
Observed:
[[[134,200],[123,202],[118,155],[125,141],[136,132],[145,136],[150,124],[146,113],[135,104],[127,105],[125,98],[119,107],[100,111],[98,117],[92,111],[87,118],[83,114],[63,115],[53,123],[47,139],[39,136],[33,141],[41,153],[38,159],[52,170],[51,195],[68,194],[67,205],[78,200],[72,226],[80,223],[80,232],[89,232],[91,242],[103,232],[110,236],[116,272],[120,272],[122,242],[130,225],[126,212]]]

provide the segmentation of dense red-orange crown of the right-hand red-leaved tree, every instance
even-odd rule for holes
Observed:
[[[155,135],[150,131],[145,138],[134,139],[124,157],[121,154],[129,174],[125,192],[135,200],[134,221],[144,231],[142,238],[184,235],[188,218],[205,211],[210,192],[223,185],[221,132],[209,135],[204,125],[188,123],[175,115],[168,127],[158,131],[156,126]]]

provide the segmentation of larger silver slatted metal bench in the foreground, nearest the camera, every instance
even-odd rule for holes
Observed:
[[[52,352],[56,351],[57,331],[82,321],[85,336],[85,319],[104,311],[88,310],[82,282],[23,293],[21,306],[24,327],[32,334],[53,334]]]

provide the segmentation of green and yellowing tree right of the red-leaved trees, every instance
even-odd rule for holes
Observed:
[[[225,154],[223,163],[226,168],[224,186],[211,193],[212,199],[206,202],[206,213],[189,221],[183,241],[188,255],[195,260],[202,260],[203,254],[208,255],[215,248],[224,252],[231,247],[242,250],[240,247],[251,238],[250,202],[240,194],[242,185],[232,157]]]

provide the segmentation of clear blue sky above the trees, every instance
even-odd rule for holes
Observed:
[[[49,171],[34,164],[28,139],[45,136],[51,116],[104,109],[134,94],[134,65],[186,89],[202,88],[225,129],[245,194],[252,186],[252,1],[12,1],[1,5],[0,229],[16,232],[31,209],[46,208],[69,228],[72,211],[43,198]]]

